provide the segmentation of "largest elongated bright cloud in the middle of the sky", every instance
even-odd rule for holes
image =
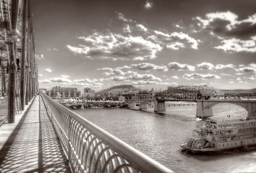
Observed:
[[[162,47],[141,36],[122,36],[113,33],[93,33],[87,37],[78,37],[85,41],[85,46],[66,47],[88,59],[107,60],[145,60],[157,58]]]

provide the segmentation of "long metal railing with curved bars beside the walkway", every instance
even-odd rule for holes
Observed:
[[[74,172],[172,172],[41,93]]]

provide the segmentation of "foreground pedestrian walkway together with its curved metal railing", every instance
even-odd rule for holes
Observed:
[[[0,172],[172,172],[41,94],[0,126]]]

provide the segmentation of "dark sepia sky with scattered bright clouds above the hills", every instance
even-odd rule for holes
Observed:
[[[256,87],[256,1],[32,0],[40,88]]]

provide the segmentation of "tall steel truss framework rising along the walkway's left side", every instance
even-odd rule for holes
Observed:
[[[8,97],[8,122],[38,92],[29,0],[0,0],[0,96]]]

